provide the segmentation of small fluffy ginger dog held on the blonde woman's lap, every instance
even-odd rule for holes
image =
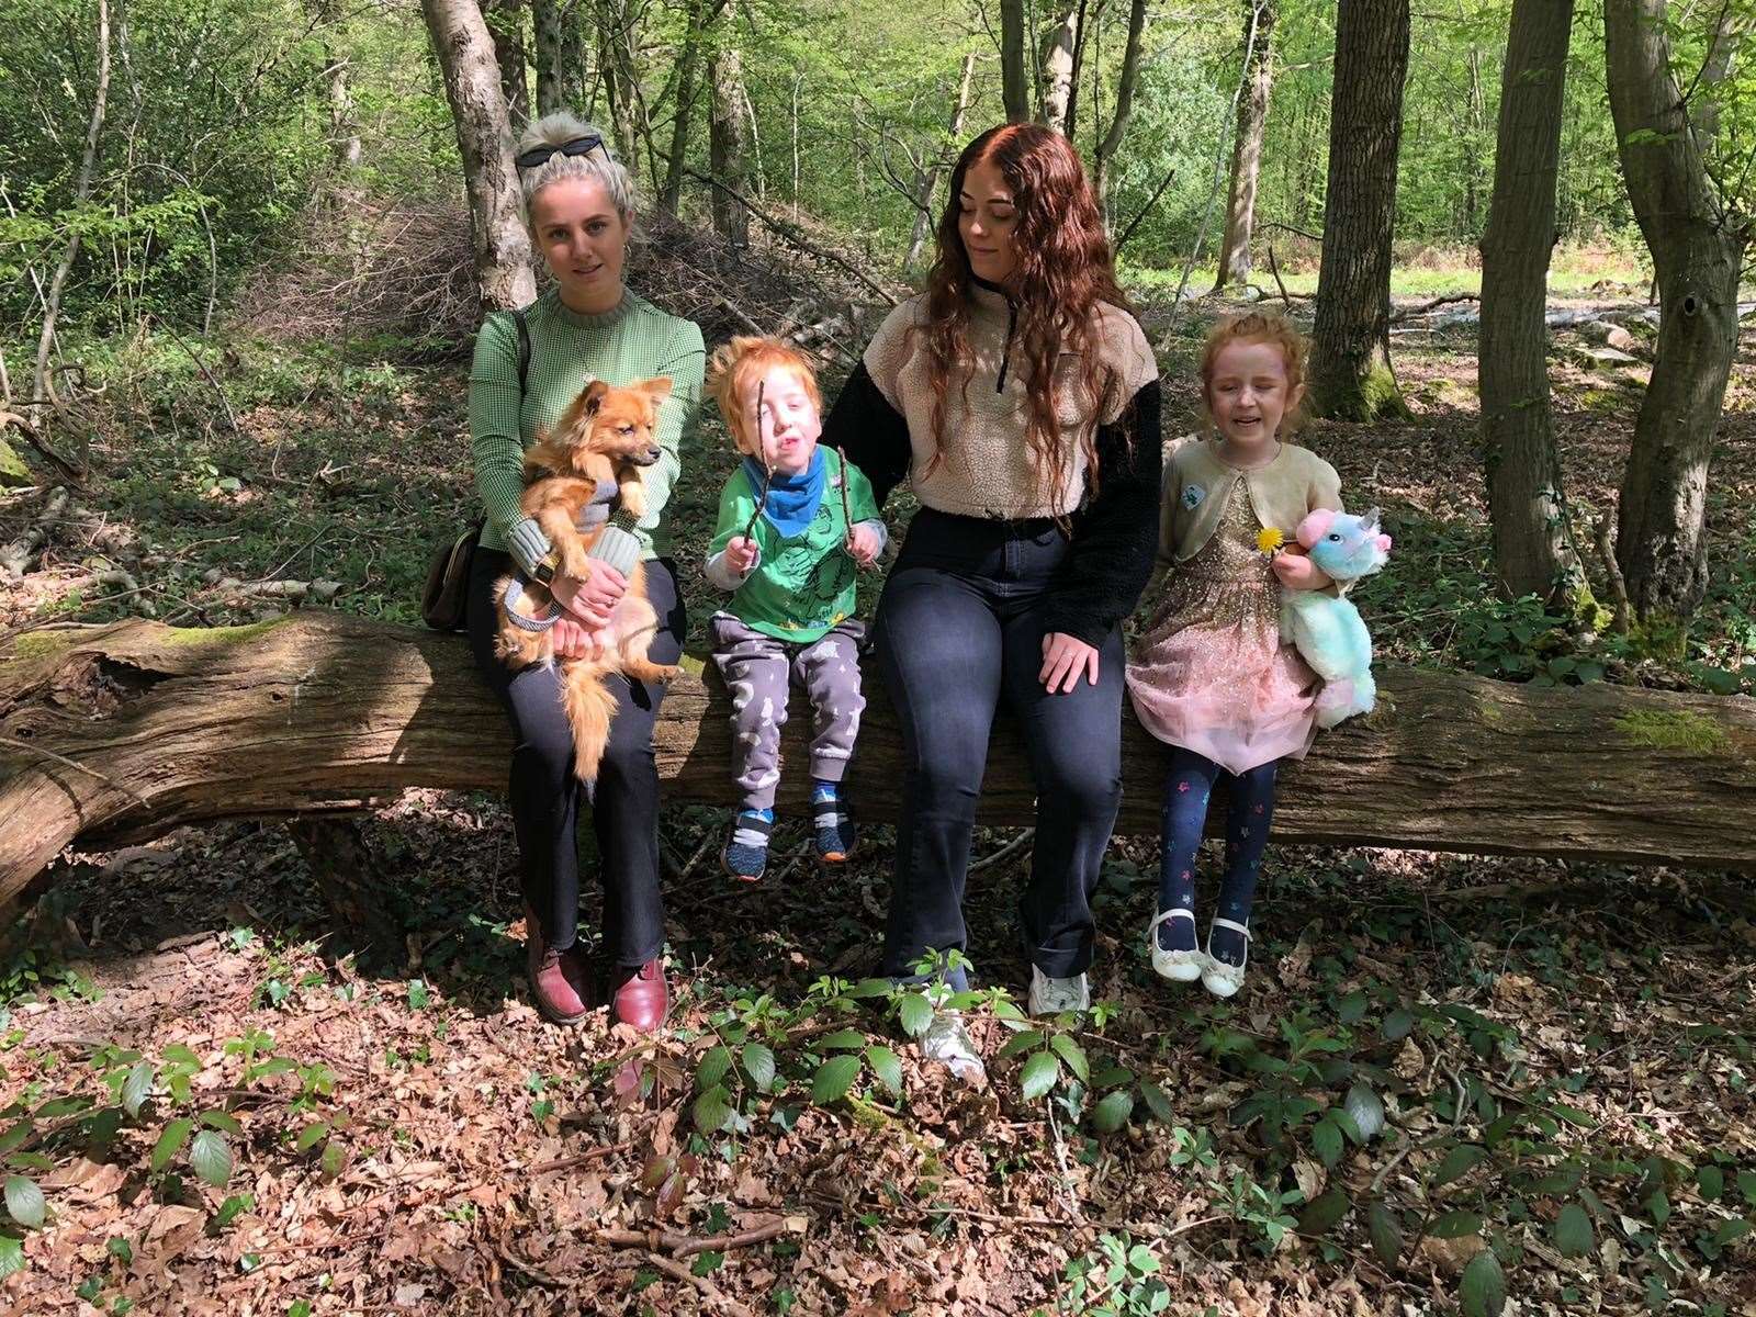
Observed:
[[[620,511],[629,516],[646,513],[646,467],[658,460],[658,443],[653,430],[658,423],[658,404],[671,395],[671,379],[660,376],[625,388],[594,381],[572,406],[562,413],[555,430],[539,435],[525,453],[525,493],[520,506],[534,516],[543,532],[560,551],[564,576],[585,576],[585,560],[606,523],[581,530],[579,509],[592,502],[601,481],[615,481],[620,492]],[[507,590],[513,592],[507,604]],[[493,588],[500,608],[500,636],[495,653],[509,667],[557,662],[555,641],[550,630],[530,630],[513,622],[507,613],[534,622],[553,618],[560,606],[546,587],[502,576]],[[609,741],[609,720],[616,713],[616,697],[604,678],[622,673],[630,681],[669,681],[676,667],[648,662],[646,650],[658,630],[658,615],[646,599],[644,571],[636,565],[629,574],[629,588],[616,601],[604,630],[601,658],[562,658],[562,706],[572,727],[574,773],[581,781],[597,778],[604,745]]]

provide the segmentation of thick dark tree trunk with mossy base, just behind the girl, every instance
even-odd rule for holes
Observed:
[[[1312,327],[1319,416],[1407,414],[1391,371],[1391,234],[1408,72],[1408,0],[1342,0],[1335,28],[1329,195]]]

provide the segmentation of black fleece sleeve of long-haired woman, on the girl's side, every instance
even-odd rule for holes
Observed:
[[[1134,611],[1159,548],[1159,381],[1098,427],[1098,497],[1073,515],[1073,548],[1050,583],[1043,622],[1087,644]]]

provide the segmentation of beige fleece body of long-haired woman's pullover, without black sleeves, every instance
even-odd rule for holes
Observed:
[[[920,328],[927,299],[913,297],[896,307],[866,348],[864,365],[873,385],[908,423],[911,451],[910,485],[924,507],[957,516],[1066,516],[1085,495],[1085,455],[1078,444],[1066,458],[1064,493],[1059,506],[1050,481],[1038,472],[1026,443],[1029,418],[1027,381],[1018,360],[1011,307],[1004,293],[975,290],[969,318],[969,348],[975,369],[966,388],[954,381],[945,397],[945,448],[932,441],[932,385],[927,378],[927,339]],[[1159,378],[1152,346],[1140,325],[1120,307],[1098,307],[1098,351],[1117,376],[1099,423],[1112,425],[1134,395]],[[1090,423],[1092,400],[1078,383],[1076,353],[1062,353],[1055,365],[1062,432]]]

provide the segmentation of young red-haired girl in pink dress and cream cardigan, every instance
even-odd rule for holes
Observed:
[[[1280,543],[1271,532],[1291,541],[1306,513],[1342,507],[1335,469],[1282,441],[1303,395],[1305,342],[1280,316],[1234,316],[1208,335],[1201,397],[1217,434],[1166,462],[1159,571],[1171,583],[1127,667],[1134,713],[1171,746],[1152,968],[1220,997],[1243,985],[1275,767],[1303,759],[1315,736],[1319,680],[1280,643],[1280,592],[1331,581],[1306,557],[1268,551]],[[1226,876],[1201,952],[1196,848],[1220,778],[1231,788]]]

